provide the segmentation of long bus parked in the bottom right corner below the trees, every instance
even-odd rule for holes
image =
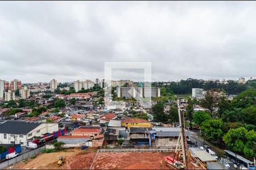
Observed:
[[[229,150],[224,150],[226,157],[231,160],[233,163],[236,163],[236,154]],[[237,155],[237,165],[240,167],[245,167],[247,169],[255,169],[254,163],[248,159],[243,158],[240,155]]]

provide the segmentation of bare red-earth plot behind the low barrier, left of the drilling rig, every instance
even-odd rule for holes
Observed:
[[[164,162],[167,155],[159,152],[98,153],[92,169],[170,169]],[[162,167],[160,160],[163,160]]]

